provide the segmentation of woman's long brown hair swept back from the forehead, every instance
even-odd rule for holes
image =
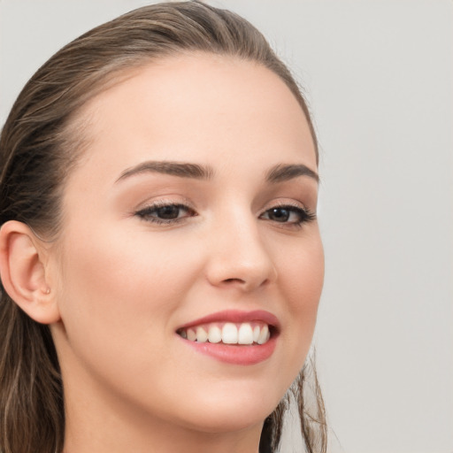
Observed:
[[[78,111],[131,68],[190,52],[241,58],[277,74],[305,113],[318,162],[316,134],[301,90],[255,27],[233,12],[197,1],[154,4],[70,42],[22,89],[0,136],[0,226],[14,219],[47,240],[55,238],[61,227],[65,178],[85,144]],[[3,286],[0,292],[0,451],[59,453],[65,406],[49,326],[30,319]],[[305,449],[326,451],[324,403],[314,368],[314,411],[306,403],[306,366],[265,419],[260,453],[279,448],[291,399],[300,416]]]

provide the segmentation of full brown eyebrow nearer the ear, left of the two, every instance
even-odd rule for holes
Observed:
[[[131,168],[127,168],[127,170],[121,173],[119,179],[116,180],[116,182],[142,173],[162,173],[170,174],[172,176],[179,176],[180,178],[209,180],[211,179],[214,171],[209,165],[203,166],[197,164],[188,164],[186,162],[150,160],[147,162],[142,162],[142,164],[135,165]]]

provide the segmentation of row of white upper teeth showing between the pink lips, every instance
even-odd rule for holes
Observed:
[[[191,342],[223,342],[225,344],[264,344],[271,337],[269,326],[257,322],[239,324],[226,322],[223,325],[211,323],[181,329],[178,334]]]

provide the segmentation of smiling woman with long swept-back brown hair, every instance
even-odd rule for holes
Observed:
[[[71,42],[1,142],[1,449],[276,451],[324,274],[296,82],[231,12],[157,4]]]

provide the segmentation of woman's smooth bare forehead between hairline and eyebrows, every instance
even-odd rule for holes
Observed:
[[[240,58],[189,54],[142,65],[79,115],[88,119],[88,159],[101,153],[105,164],[114,150],[125,166],[150,157],[206,162],[283,152],[316,168],[296,97],[278,75]]]

